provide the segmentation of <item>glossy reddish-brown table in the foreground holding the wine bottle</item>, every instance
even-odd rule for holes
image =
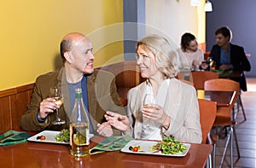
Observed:
[[[99,136],[94,136],[90,147],[101,140]],[[0,167],[204,167],[212,145],[191,144],[189,153],[181,158],[120,151],[75,158],[69,154],[69,145],[44,142],[26,142],[0,147],[0,150]]]

